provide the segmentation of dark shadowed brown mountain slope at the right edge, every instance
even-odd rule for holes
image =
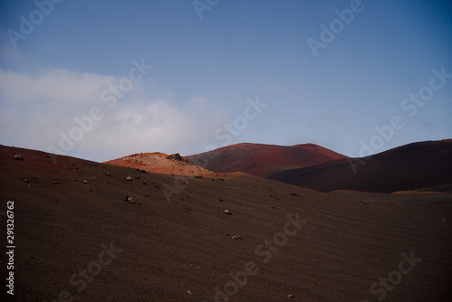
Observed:
[[[269,178],[321,192],[357,190],[392,193],[452,184],[452,140],[426,141],[375,156],[344,158],[287,169]]]

